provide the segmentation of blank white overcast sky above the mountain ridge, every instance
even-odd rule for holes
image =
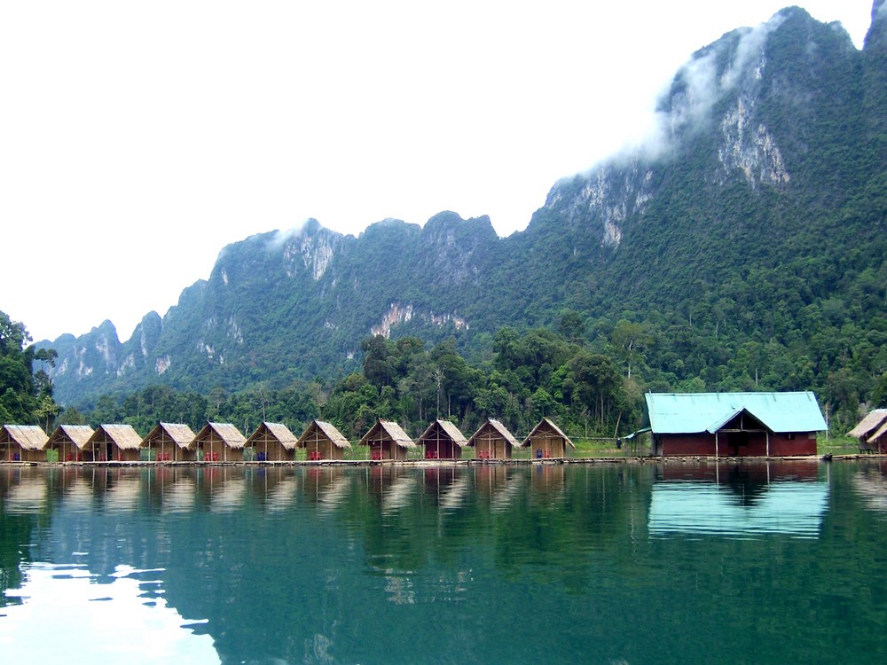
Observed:
[[[522,231],[787,0],[0,0],[0,311],[122,341],[221,249],[443,210]],[[871,0],[797,3],[861,48]]]

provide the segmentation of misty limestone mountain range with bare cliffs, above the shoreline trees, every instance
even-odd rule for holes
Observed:
[[[105,322],[52,342],[56,394],[334,377],[370,334],[481,349],[563,309],[670,330],[656,380],[714,381],[753,343],[784,351],[784,387],[812,387],[852,355],[832,331],[887,341],[885,73],[885,0],[861,51],[839,24],[783,10],[697,51],[656,136],[554,184],[526,231],[501,239],[485,217],[441,213],[357,238],[315,221],[253,236],[129,341]]]

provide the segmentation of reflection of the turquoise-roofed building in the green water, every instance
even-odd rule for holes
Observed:
[[[714,465],[697,473],[681,469],[684,479],[655,482],[649,534],[818,537],[828,509],[828,483],[767,481],[772,471],[769,465]],[[687,477],[693,475],[704,480]]]

